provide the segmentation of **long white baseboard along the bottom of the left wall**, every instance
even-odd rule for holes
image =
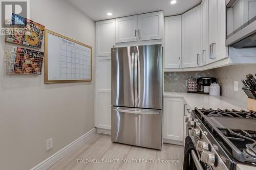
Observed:
[[[46,170],[58,162],[61,158],[65,157],[69,154],[75,147],[77,147],[81,142],[86,142],[92,138],[93,134],[96,133],[96,128],[93,128],[86,134],[82,135],[78,139],[74,140],[66,147],[62,148],[46,160],[42,161],[41,163],[37,164],[36,166],[32,167],[30,170]]]

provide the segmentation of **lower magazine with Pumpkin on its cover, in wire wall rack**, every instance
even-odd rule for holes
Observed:
[[[17,47],[13,74],[41,74],[44,53]]]

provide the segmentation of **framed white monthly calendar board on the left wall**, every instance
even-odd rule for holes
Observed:
[[[92,79],[92,47],[46,30],[45,82],[86,82]]]

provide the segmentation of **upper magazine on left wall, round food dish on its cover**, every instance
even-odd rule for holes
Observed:
[[[35,48],[41,48],[45,26],[40,25],[30,19],[25,19],[16,14],[12,14],[12,25],[22,27],[21,29],[11,29],[6,36],[7,42],[14,42]]]

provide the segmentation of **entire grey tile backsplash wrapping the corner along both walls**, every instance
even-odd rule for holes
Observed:
[[[256,65],[230,65],[205,71],[187,71],[187,72],[165,72],[164,73],[164,91],[186,92],[186,79],[189,76],[216,77],[221,86],[221,95],[226,96],[243,103],[247,102],[247,96],[242,90],[242,79],[247,74],[256,74]],[[238,81],[238,91],[234,91],[234,81]]]

